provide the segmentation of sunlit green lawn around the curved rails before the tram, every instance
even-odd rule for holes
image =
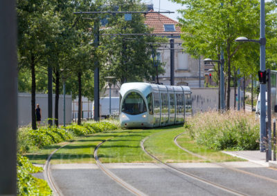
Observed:
[[[173,139],[179,134],[186,131],[184,126],[167,126],[153,129],[132,129],[132,130],[113,130],[87,137],[79,137],[78,140],[64,146],[53,155],[51,164],[73,164],[73,163],[90,163],[96,161],[93,157],[94,149],[101,141],[108,139],[98,150],[98,157],[103,163],[138,163],[138,162],[155,162],[141,149],[141,140],[145,137],[145,149],[153,155],[166,162],[203,162],[181,150],[174,143]],[[183,135],[178,142],[184,148],[199,153],[215,161],[240,161],[224,153],[215,150],[207,150],[191,141],[188,135]],[[61,146],[55,144],[48,146],[36,153],[28,154],[30,161],[37,164],[44,164],[48,155]]]

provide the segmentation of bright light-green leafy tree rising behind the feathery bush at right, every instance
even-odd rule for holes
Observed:
[[[227,80],[226,109],[230,108],[231,63],[241,43],[240,36],[258,37],[259,2],[257,0],[172,0],[185,6],[179,20],[184,39],[184,48],[191,55],[218,58],[220,48],[226,59]],[[249,48],[248,48],[249,50]],[[251,49],[250,49],[251,50]]]

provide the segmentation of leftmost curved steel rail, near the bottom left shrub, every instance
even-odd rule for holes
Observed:
[[[66,146],[70,144],[69,142],[67,142],[66,144],[64,144],[63,146],[61,146],[60,148]],[[60,148],[55,149],[47,158],[45,164],[44,164],[44,179],[46,179],[46,182],[48,183],[48,185],[50,186],[51,190],[53,191],[53,195],[57,195],[57,196],[63,196],[62,194],[62,190],[60,190],[60,188],[57,186],[57,184],[55,183],[55,180],[53,179],[52,175],[51,175],[51,165],[50,165],[50,161],[51,161],[51,157],[57,152],[57,150],[60,150]]]

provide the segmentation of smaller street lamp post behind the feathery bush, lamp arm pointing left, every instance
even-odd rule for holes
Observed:
[[[224,72],[223,72],[223,67],[224,67],[224,55],[223,55],[223,50],[220,53],[220,61],[218,60],[212,60],[212,59],[204,59],[204,62],[217,62],[220,63],[220,110],[223,111],[225,108],[224,104]]]

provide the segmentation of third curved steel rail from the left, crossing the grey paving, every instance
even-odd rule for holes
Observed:
[[[143,151],[144,151],[146,154],[148,154],[150,157],[152,157],[153,159],[156,159],[157,161],[159,161],[159,162],[160,162],[161,164],[163,164],[164,166],[167,166],[168,168],[170,168],[171,170],[174,170],[175,172],[180,173],[180,174],[182,174],[182,175],[186,175],[187,177],[190,177],[190,178],[192,178],[192,179],[196,179],[196,180],[198,180],[199,182],[203,182],[204,184],[208,184],[208,185],[213,186],[213,187],[215,187],[215,188],[218,188],[218,189],[220,189],[220,190],[224,190],[224,191],[226,191],[226,192],[228,192],[228,193],[231,193],[231,194],[233,194],[233,195],[240,195],[240,196],[241,196],[241,195],[245,195],[244,193],[240,193],[240,192],[237,191],[237,190],[233,190],[233,189],[231,189],[231,188],[227,188],[226,186],[222,186],[222,185],[217,184],[217,183],[215,183],[215,182],[208,181],[208,180],[206,180],[206,179],[203,179],[202,177],[197,177],[196,175],[193,175],[192,173],[188,173],[188,172],[186,172],[186,171],[184,171],[184,170],[181,170],[181,169],[179,169],[179,168],[176,168],[175,166],[172,166],[172,165],[170,165],[170,164],[164,163],[163,161],[161,161],[161,159],[155,157],[154,155],[152,155],[151,153],[149,153],[147,150],[145,150],[143,144],[144,144],[144,141],[145,141],[146,139],[148,139],[148,137],[145,137],[143,140],[141,140],[141,148],[143,149]]]

